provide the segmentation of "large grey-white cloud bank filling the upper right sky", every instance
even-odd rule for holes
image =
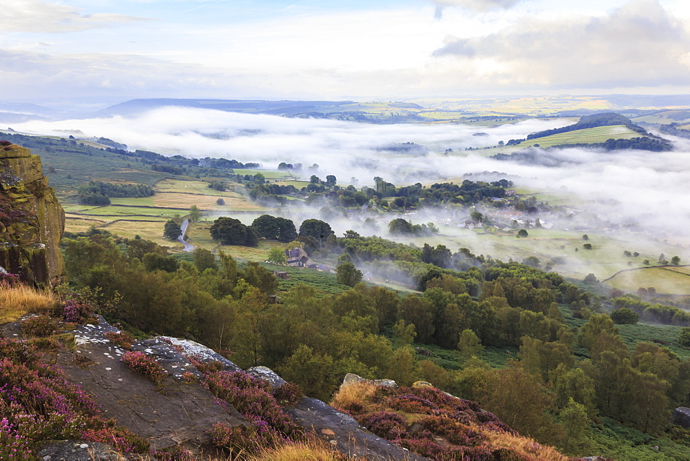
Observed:
[[[636,0],[602,17],[533,18],[486,37],[449,37],[434,55],[504,84],[612,88],[686,86],[689,50],[686,23],[656,0]]]

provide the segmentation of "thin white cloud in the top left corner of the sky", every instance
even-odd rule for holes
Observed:
[[[81,14],[73,6],[41,0],[0,1],[1,32],[77,32],[144,20],[126,14]]]

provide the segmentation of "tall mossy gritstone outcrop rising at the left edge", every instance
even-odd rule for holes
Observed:
[[[43,176],[41,158],[0,147],[0,266],[35,284],[62,282],[65,212]]]

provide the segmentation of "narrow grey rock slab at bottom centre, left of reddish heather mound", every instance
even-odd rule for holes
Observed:
[[[321,400],[302,398],[288,406],[290,418],[308,431],[328,440],[338,451],[353,458],[367,460],[428,460],[388,442],[359,426],[357,420],[341,413]]]

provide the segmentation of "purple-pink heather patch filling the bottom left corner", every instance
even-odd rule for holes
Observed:
[[[44,440],[81,439],[137,451],[136,436],[101,417],[94,400],[33,346],[0,338],[0,458],[34,458]]]

